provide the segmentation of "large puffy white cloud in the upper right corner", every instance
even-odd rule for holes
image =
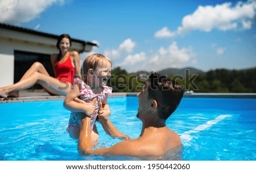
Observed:
[[[248,30],[253,23],[255,9],[256,1],[238,2],[236,5],[229,2],[216,6],[199,6],[193,14],[184,16],[182,26],[178,27],[173,34],[185,34],[193,30],[204,32],[210,32],[213,29]],[[166,32],[168,33],[168,30]]]

